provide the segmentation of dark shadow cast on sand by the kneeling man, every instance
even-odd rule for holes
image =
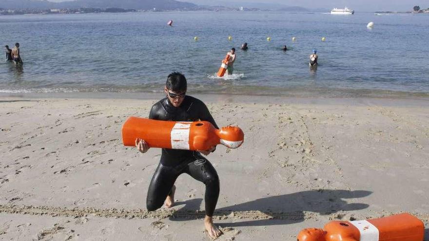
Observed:
[[[222,207],[215,210],[215,215],[230,215],[232,212],[260,211],[274,218],[258,219],[254,221],[222,223],[225,226],[266,226],[281,225],[296,222],[303,222],[305,212],[315,212],[321,215],[333,214],[338,211],[361,210],[367,208],[368,204],[351,203],[343,199],[363,198],[372,192],[364,190],[311,190],[302,191],[286,195],[268,196],[247,203],[236,204]],[[202,199],[192,199],[185,202],[177,202],[176,205],[185,204],[175,213],[183,213],[189,210],[198,210]],[[178,217],[180,215],[177,215]],[[199,217],[201,216],[201,217]],[[183,216],[182,216],[183,217]],[[203,218],[204,212],[201,212],[197,218]],[[247,217],[246,217],[247,218]],[[195,219],[195,216],[193,217]],[[170,220],[184,221],[186,218],[170,217]],[[188,219],[189,220],[189,219]]]

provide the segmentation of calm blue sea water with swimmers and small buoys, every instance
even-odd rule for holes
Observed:
[[[0,62],[2,93],[158,92],[172,71],[185,74],[194,93],[429,93],[429,14],[0,16],[0,33],[3,46],[20,42],[24,61],[22,68]],[[243,42],[247,52],[239,50]],[[282,45],[290,50],[284,53]],[[234,74],[217,78],[231,47],[237,49]],[[317,70],[308,65],[312,49]]]

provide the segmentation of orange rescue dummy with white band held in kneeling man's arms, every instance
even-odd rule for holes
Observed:
[[[146,141],[149,147],[208,150],[222,144],[238,148],[244,141],[244,133],[238,127],[222,127],[220,130],[207,121],[175,122],[129,117],[122,126],[124,146],[136,146],[136,138]]]

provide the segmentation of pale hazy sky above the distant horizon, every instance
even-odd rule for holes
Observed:
[[[66,1],[66,0],[50,0]],[[156,1],[156,0],[154,0]],[[298,6],[305,8],[325,8],[332,9],[348,7],[355,11],[409,11],[414,5],[420,8],[429,8],[429,0],[179,0],[192,2],[199,5],[223,5],[223,6],[243,6],[254,7],[254,3],[262,3],[257,7],[273,6],[282,4],[286,6]]]

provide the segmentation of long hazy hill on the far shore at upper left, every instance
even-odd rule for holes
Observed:
[[[49,9],[49,8],[127,8],[127,9],[185,9],[196,7],[190,2],[176,0],[76,0],[50,2],[47,0],[0,0],[0,8],[5,9]]]

